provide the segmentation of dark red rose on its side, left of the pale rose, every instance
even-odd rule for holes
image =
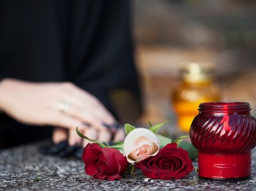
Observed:
[[[114,148],[101,148],[99,144],[87,144],[82,153],[86,174],[100,180],[120,180],[128,168],[126,157]]]

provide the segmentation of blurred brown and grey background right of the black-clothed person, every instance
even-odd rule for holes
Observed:
[[[256,1],[133,0],[132,22],[140,121],[177,126],[170,97],[188,62],[211,63],[221,100],[249,102],[256,115]]]

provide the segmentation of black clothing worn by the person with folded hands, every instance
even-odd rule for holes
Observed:
[[[1,0],[1,78],[73,82],[113,112],[114,88],[139,97],[129,11],[129,2],[119,0]],[[49,136],[46,128],[34,129]],[[2,114],[0,148],[37,140],[28,130]]]

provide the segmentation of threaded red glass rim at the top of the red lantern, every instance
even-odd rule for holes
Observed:
[[[200,103],[199,111],[225,112],[225,111],[251,111],[247,102],[222,101]]]

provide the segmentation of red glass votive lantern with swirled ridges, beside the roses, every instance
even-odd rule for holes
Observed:
[[[251,150],[256,145],[256,119],[244,102],[201,103],[190,126],[199,151],[199,176],[236,179],[251,176]]]

